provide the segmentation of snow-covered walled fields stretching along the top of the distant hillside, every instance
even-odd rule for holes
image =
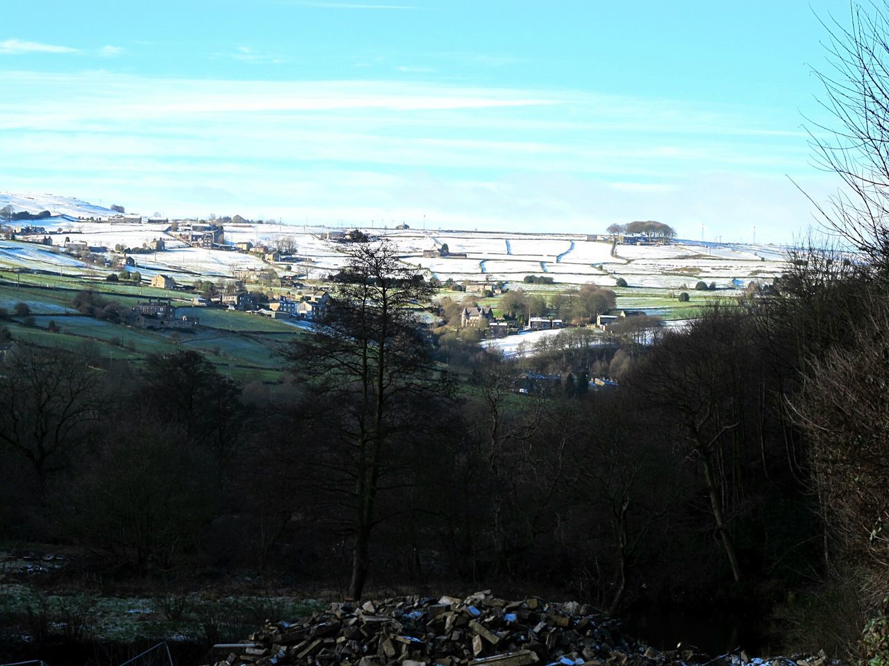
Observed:
[[[70,197],[51,194],[0,193],[0,207],[12,205],[15,210],[39,212],[79,218],[107,217],[113,211]],[[41,226],[40,221],[33,224]],[[140,272],[150,276],[170,274],[177,281],[194,280],[198,275],[223,277],[236,268],[274,267],[284,272],[284,262],[270,265],[254,255],[225,250],[188,248],[166,233],[163,224],[102,223],[90,220],[70,221],[53,218],[47,221],[53,245],[61,245],[67,237],[85,241],[91,246],[113,249],[121,244],[142,247],[156,238],[164,238],[168,250],[138,255]],[[290,262],[294,273],[310,278],[323,278],[339,270],[348,261],[348,244],[326,240],[323,227],[302,225],[243,223],[225,226],[225,241],[252,242],[276,247],[295,246],[293,254],[300,259]],[[771,280],[784,269],[784,250],[768,245],[737,243],[700,243],[678,241],[669,245],[618,245],[612,256],[610,242],[587,241],[584,234],[511,234],[433,230],[380,230],[365,228],[375,237],[384,236],[396,245],[405,265],[418,267],[428,275],[456,281],[491,280],[521,281],[525,275],[546,274],[561,283],[595,283],[613,286],[623,278],[630,287],[660,289],[693,288],[699,281],[715,281],[719,287],[738,288],[752,279]],[[466,257],[423,257],[424,250],[447,244],[453,253]],[[306,260],[308,259],[308,260]],[[76,273],[90,270],[67,254],[36,245],[6,243],[0,246],[0,266],[35,268],[64,267]],[[483,277],[484,276],[484,277]]]

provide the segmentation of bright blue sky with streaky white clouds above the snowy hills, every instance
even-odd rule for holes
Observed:
[[[845,0],[30,0],[0,191],[167,216],[792,242]]]

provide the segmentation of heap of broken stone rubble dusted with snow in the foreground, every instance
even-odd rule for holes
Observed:
[[[332,604],[306,622],[268,622],[248,642],[213,647],[215,666],[740,666],[746,655],[710,659],[694,650],[659,652],[630,640],[596,609],[541,599],[402,597]],[[790,660],[781,660],[785,666]],[[753,660],[764,666],[779,666]],[[805,666],[827,666],[826,659]],[[793,663],[793,662],[791,662]],[[804,662],[800,662],[801,664]]]

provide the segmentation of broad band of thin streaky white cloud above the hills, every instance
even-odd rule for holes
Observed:
[[[413,78],[0,69],[0,155],[19,167],[10,186],[90,196],[101,183],[101,196],[180,214],[214,210],[216,194],[195,193],[222,188],[233,211],[356,225],[423,213],[565,230],[635,218],[700,229],[713,210],[738,228],[808,219],[783,176],[811,172],[805,142],[730,105]]]

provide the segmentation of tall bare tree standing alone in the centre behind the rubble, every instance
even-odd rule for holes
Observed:
[[[324,321],[286,356],[300,377],[315,380],[316,395],[335,411],[328,427],[339,453],[328,458],[324,472],[332,475],[331,485],[339,479],[350,486],[348,597],[358,599],[370,571],[378,499],[397,457],[393,448],[415,440],[420,415],[443,385],[410,309],[428,302],[436,289],[401,264],[396,248],[385,242],[351,245],[347,266],[332,280],[334,297]]]

